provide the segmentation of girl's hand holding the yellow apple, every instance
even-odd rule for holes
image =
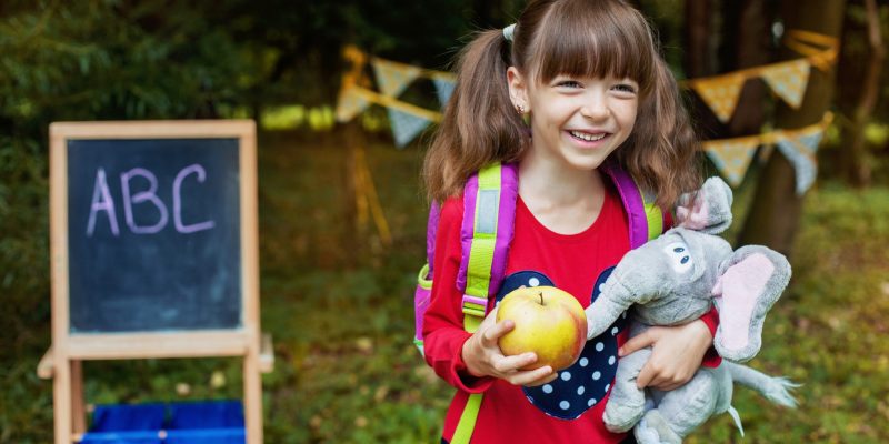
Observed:
[[[463,343],[463,362],[472,376],[493,376],[513,385],[542,385],[556,379],[552,367],[520,370],[537,361],[532,352],[505,356],[497,342],[516,324],[510,320],[497,323],[497,309],[492,310],[469,340]]]

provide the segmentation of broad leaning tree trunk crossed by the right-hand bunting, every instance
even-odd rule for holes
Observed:
[[[785,29],[813,31],[839,38],[842,28],[845,0],[785,0],[781,8]],[[799,58],[789,49],[781,59]],[[831,67],[822,72],[812,67],[809,84],[799,110],[778,103],[776,127],[796,129],[820,121],[833,93]],[[757,183],[753,202],[739,236],[740,244],[768,245],[790,255],[799,228],[802,196],[796,194],[796,172],[790,162],[775,151]]]

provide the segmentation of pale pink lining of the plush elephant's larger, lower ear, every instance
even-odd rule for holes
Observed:
[[[772,273],[771,261],[762,253],[755,253],[731,265],[717,283],[713,291],[718,292],[721,285],[719,329],[726,349],[740,350],[749,343],[753,309]]]

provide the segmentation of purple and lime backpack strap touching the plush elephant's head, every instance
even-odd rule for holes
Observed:
[[[663,213],[655,204],[655,194],[642,190],[617,163],[607,162],[601,171],[618,189],[630,224],[630,248],[635,249],[663,232]]]

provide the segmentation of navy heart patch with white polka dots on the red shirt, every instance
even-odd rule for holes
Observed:
[[[611,274],[613,266],[607,269],[596,280],[591,301],[599,297],[600,286]],[[497,301],[522,285],[557,286],[542,273],[522,271],[509,275],[497,294]],[[537,387],[522,387],[528,401],[543,413],[561,420],[573,420],[596,405],[611,389],[618,367],[618,334],[627,325],[626,313],[601,335],[587,341],[580,357],[559,376]]]

